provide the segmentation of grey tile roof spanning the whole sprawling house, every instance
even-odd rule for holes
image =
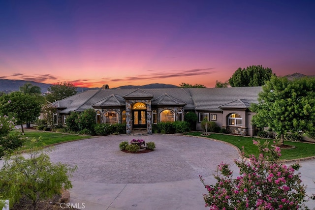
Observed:
[[[220,107],[246,107],[258,103],[261,87],[239,88],[162,88],[162,89],[100,89],[70,96],[59,104],[61,113],[82,112],[93,106],[124,105],[122,98],[152,98],[152,105],[185,105],[185,110],[221,111]],[[125,99],[124,99],[125,100]],[[70,103],[70,101],[72,101]],[[65,107],[68,105],[67,107]]]

